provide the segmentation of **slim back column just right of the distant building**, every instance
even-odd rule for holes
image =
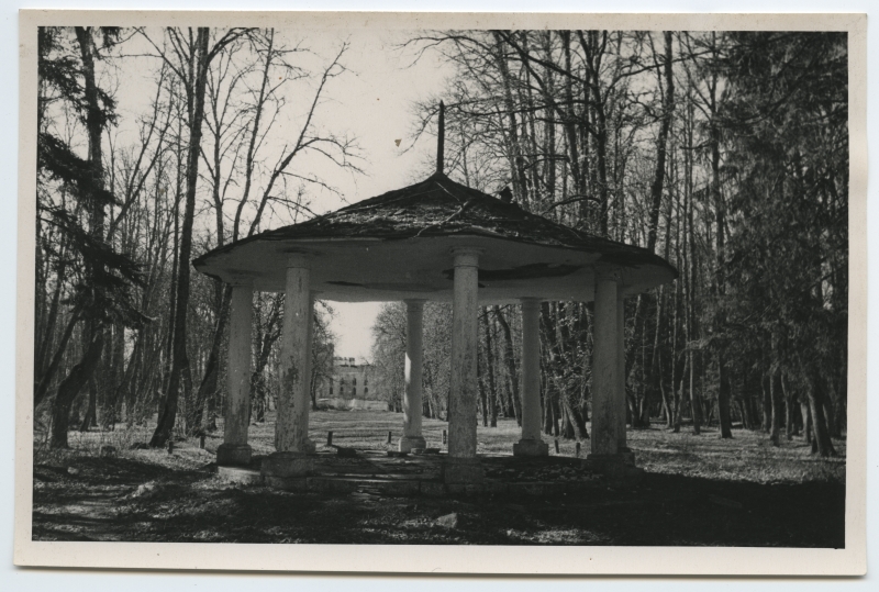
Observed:
[[[403,437],[399,450],[426,448],[421,435],[421,372],[423,358],[424,301],[405,301],[405,396],[403,398]]]

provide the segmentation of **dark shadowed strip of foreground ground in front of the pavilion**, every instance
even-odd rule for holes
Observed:
[[[839,481],[648,471],[635,488],[534,498],[283,492],[215,467],[69,455],[34,466],[35,540],[842,547]]]

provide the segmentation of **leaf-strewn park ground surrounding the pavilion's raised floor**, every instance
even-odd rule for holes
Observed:
[[[318,411],[311,437],[383,450],[402,415]],[[447,424],[424,421],[429,446],[442,447]],[[274,424],[251,427],[255,454],[272,450]],[[513,421],[478,428],[480,454],[509,453]],[[234,485],[216,476],[221,431],[166,449],[132,448],[148,429],[70,433],[70,450],[34,453],[35,540],[138,540],[330,544],[696,545],[842,547],[845,533],[845,440],[839,458],[809,454],[802,438],[772,447],[766,434],[713,429],[694,436],[664,427],[628,431],[646,472],[638,485],[598,487],[543,498],[388,498],[283,492]],[[555,455],[553,438],[550,455]],[[101,446],[116,453],[100,455]],[[583,443],[583,454],[589,443]],[[575,443],[559,440],[559,456]],[[561,461],[561,459],[558,459]],[[565,465],[575,463],[570,460]],[[514,465],[513,465],[514,466]],[[522,472],[531,471],[523,468]],[[522,476],[525,478],[526,476]]]

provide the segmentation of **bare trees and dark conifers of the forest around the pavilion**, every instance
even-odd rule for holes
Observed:
[[[155,446],[175,429],[211,429],[229,293],[188,261],[314,215],[333,185],[308,158],[360,170],[356,138],[321,101],[356,48],[315,56],[281,37],[41,31],[34,402],[51,446],[66,446],[71,422],[113,428],[156,411]],[[444,88],[414,105],[410,137],[435,133],[445,100],[450,176],[678,267],[672,286],[627,302],[633,427],[714,422],[732,437],[739,422],[834,454],[847,409],[845,34],[444,31],[396,51],[448,68]],[[134,142],[113,134],[125,60],[151,64],[142,72],[155,81]],[[311,101],[288,104],[281,89],[293,85]],[[293,108],[294,124],[275,126]],[[258,420],[276,389],[282,302],[255,303]],[[519,415],[518,315],[481,315],[487,425]],[[541,317],[545,429],[585,438],[590,308],[547,303]],[[427,416],[442,417],[447,400],[446,319],[427,308]],[[391,406],[401,323],[390,305],[375,328]],[[325,359],[332,335],[315,335]],[[327,371],[315,368],[315,380]]]

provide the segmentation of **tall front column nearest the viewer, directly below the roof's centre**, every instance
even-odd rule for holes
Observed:
[[[443,478],[447,483],[481,480],[476,458],[476,351],[478,336],[479,250],[455,248],[455,286],[452,303],[452,380],[448,400],[448,456]]]

